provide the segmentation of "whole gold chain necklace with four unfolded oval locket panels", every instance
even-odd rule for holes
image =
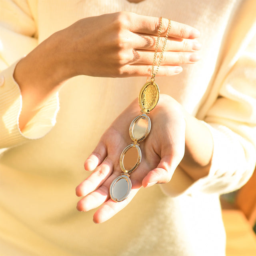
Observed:
[[[160,63],[162,61],[162,57],[164,54],[164,48],[166,46],[166,42],[168,39],[168,35],[171,28],[171,20],[168,21],[168,29],[166,36],[164,38],[164,44],[162,47],[162,51],[160,53],[158,65],[156,68],[156,72],[154,72],[156,56],[158,52],[160,34],[162,31],[162,17],[160,18],[160,26],[158,29],[158,37],[156,40],[156,49],[154,53],[154,60],[152,64],[152,77],[150,82],[146,82],[144,86],[140,90],[139,94],[139,106],[140,106],[140,114],[136,116],[134,120],[132,120],[129,128],[130,138],[132,139],[132,143],[128,145],[121,153],[119,164],[123,173],[115,178],[110,185],[110,197],[112,200],[116,202],[121,202],[125,200],[132,189],[132,182],[130,180],[130,174],[139,166],[141,162],[141,150],[140,144],[142,140],[146,139],[151,129],[151,121],[148,117],[150,111],[156,106],[159,100],[159,88],[155,83],[155,76],[158,72]],[[132,164],[130,164],[130,160],[132,158]],[[134,161],[135,160],[135,161]]]

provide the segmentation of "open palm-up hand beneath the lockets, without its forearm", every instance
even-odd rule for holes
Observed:
[[[161,94],[157,106],[149,114],[152,122],[150,134],[140,142],[142,160],[130,176],[131,193],[122,202],[112,201],[110,184],[122,173],[120,154],[132,142],[128,128],[139,114],[138,100],[134,100],[106,130],[84,163],[85,170],[96,169],[76,188],[77,196],[84,196],[77,208],[88,211],[101,206],[94,214],[96,223],[104,222],[122,210],[142,186],[169,182],[184,156],[186,122],[183,108],[170,96]]]

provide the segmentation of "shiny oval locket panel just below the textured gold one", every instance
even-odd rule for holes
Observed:
[[[146,114],[141,114],[137,116],[132,121],[129,133],[130,137],[134,142],[140,142],[145,140],[148,136],[151,129],[151,121],[150,118]]]

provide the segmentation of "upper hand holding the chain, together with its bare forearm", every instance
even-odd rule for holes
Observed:
[[[162,35],[167,26],[163,19]],[[149,76],[158,28],[159,18],[117,12],[78,20],[47,38],[14,71],[22,94],[20,130],[68,78]],[[199,35],[198,30],[172,21],[158,76],[178,74],[179,65],[198,61],[200,44],[193,39]]]

